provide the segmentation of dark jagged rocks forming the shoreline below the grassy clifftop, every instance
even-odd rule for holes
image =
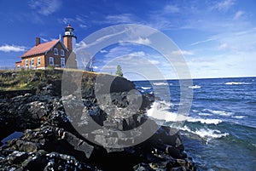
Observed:
[[[32,80],[40,82],[37,74]],[[94,75],[83,75],[82,105],[75,94],[61,95],[57,77],[31,93],[0,94],[0,139],[22,133],[1,143],[0,170],[195,170],[178,131],[145,115],[153,95],[143,94],[139,110],[125,110],[135,86],[113,77],[111,98],[102,94],[105,103],[99,105],[95,80]],[[76,115],[67,114],[67,105]],[[146,122],[151,130],[141,127]],[[137,143],[142,136],[149,138]]]

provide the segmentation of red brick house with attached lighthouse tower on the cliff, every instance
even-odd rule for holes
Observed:
[[[21,56],[21,61],[16,62],[16,67],[45,69],[48,66],[65,68],[67,59],[73,51],[76,43],[74,29],[70,25],[65,28],[63,43],[60,39],[41,43],[40,38],[36,38],[36,44]]]

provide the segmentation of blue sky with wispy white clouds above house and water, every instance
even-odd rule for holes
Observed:
[[[255,77],[255,9],[254,0],[0,0],[0,68],[15,66],[35,37],[42,43],[59,38],[68,23],[78,46],[106,27],[135,24],[171,39],[170,47],[177,47],[172,54],[180,54],[192,78]],[[114,74],[120,65],[133,80],[177,78],[176,66],[152,48],[152,40],[137,36],[136,43],[119,41],[99,49],[94,70]],[[143,74],[131,73],[132,67]]]

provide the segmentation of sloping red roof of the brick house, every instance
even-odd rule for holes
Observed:
[[[50,48],[53,48],[55,46],[55,44],[59,43],[59,42],[60,42],[60,39],[56,39],[56,40],[50,41],[48,43],[38,44],[38,46],[34,46],[30,50],[28,50],[25,54],[23,54],[21,56],[21,58],[26,57],[26,56],[32,56],[35,54],[43,54],[43,53],[49,51]]]

